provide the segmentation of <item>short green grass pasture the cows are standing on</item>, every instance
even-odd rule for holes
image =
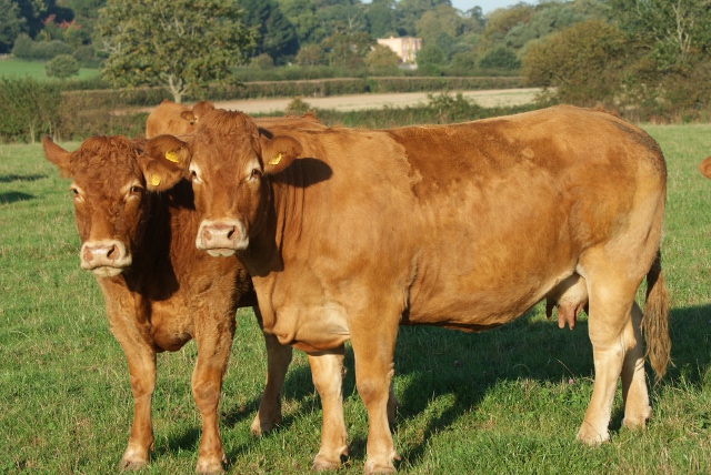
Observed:
[[[400,473],[711,473],[711,181],[695,169],[711,154],[711,125],[645,129],[669,163],[662,252],[674,361],[651,392],[654,415],[647,431],[620,428],[618,394],[612,442],[598,448],[575,442],[593,377],[584,316],[573,332],[545,320],[540,305],[481,334],[403,327],[394,378]],[[116,473],[126,447],[128,370],[100,291],[79,269],[68,185],[39,145],[0,149],[0,473]],[[241,310],[238,321],[220,406],[228,472],[308,473],[321,411],[306,357],[296,352],[287,376],[283,425],[250,436],[266,355],[251,311]],[[194,469],[194,358],[193,343],[159,355],[156,449],[140,473]],[[339,473],[360,474],[367,417],[352,354],[347,366],[351,458]]]

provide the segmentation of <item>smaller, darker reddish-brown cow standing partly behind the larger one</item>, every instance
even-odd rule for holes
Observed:
[[[158,143],[170,149],[174,143],[170,137],[151,141],[92,138],[72,153],[48,138],[43,143],[47,159],[73,180],[81,267],[97,276],[111,332],[129,363],[136,412],[120,467],[140,468],[148,463],[153,445],[156,354],[177,351],[196,338],[192,393],[203,417],[197,471],[221,472],[224,453],[217,407],[234,312],[238,306],[254,305],[256,296],[237,260],[218,262],[196,250],[199,221],[190,184],[183,181],[168,190],[156,179],[153,171],[159,169],[182,176],[172,162],[184,156],[149,156]],[[291,361],[290,346],[279,344],[273,335],[264,337],[269,372],[252,424],[254,433],[281,421],[280,394]]]

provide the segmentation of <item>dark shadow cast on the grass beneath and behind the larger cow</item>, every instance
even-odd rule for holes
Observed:
[[[467,334],[438,327],[402,326],[395,347],[395,394],[400,402],[398,420],[417,417],[430,408],[433,401],[449,396],[454,402],[433,414],[427,422],[422,442],[401,452],[403,459],[417,464],[427,449],[432,434],[447,429],[464,413],[477,407],[489,390],[501,382],[533,380],[558,384],[561,381],[582,381],[594,377],[592,346],[588,337],[588,320],[583,315],[574,331],[558,329],[555,321],[547,322],[528,313],[517,321],[479,334]],[[674,385],[683,377],[700,387],[703,374],[711,364],[711,304],[673,309],[670,313],[672,361],[667,376],[654,385],[651,368],[647,367],[649,386],[654,392]],[[357,394],[354,360],[347,346],[344,397]],[[290,370],[284,397],[298,402],[300,408],[284,417],[281,427],[298,424],[300,413],[312,405],[313,385],[308,366]],[[572,391],[575,391],[573,388]],[[581,391],[581,390],[578,390]],[[450,401],[448,400],[448,401]],[[582,422],[589,395],[573,396],[571,410],[579,412]],[[254,416],[259,398],[224,416],[227,427]],[[610,431],[617,433],[623,420],[623,406],[615,400]],[[347,426],[350,422],[347,421]],[[270,435],[267,435],[270,436]],[[356,435],[349,441],[351,463],[365,457],[367,441]],[[233,447],[233,451],[239,447]],[[231,452],[233,452],[231,451]],[[313,453],[318,447],[313,447]]]

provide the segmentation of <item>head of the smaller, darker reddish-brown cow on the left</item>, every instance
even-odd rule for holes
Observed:
[[[42,143],[47,160],[72,179],[81,269],[102,277],[119,275],[140,246],[150,215],[150,192],[180,181],[189,160],[187,149],[169,135],[150,141],[93,137],[73,152],[50,138]]]

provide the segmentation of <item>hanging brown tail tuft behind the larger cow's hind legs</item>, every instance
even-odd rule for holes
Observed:
[[[669,338],[669,293],[662,273],[661,252],[647,273],[647,302],[642,332],[647,341],[647,357],[654,370],[657,382],[664,377],[671,363],[671,340]]]

